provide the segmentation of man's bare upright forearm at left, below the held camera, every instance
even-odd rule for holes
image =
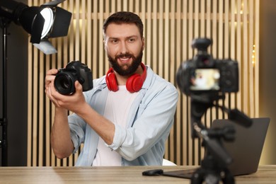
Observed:
[[[59,159],[67,158],[74,150],[71,142],[67,110],[56,108],[51,136],[52,149]]]

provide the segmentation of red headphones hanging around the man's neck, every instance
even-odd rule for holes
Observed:
[[[129,79],[127,79],[127,91],[130,91],[130,93],[139,91],[146,79],[146,67],[143,63],[141,63],[141,66],[144,70],[142,75],[133,74]],[[105,76],[105,81],[110,91],[118,91],[116,75],[114,74],[113,68],[108,70],[108,73]]]

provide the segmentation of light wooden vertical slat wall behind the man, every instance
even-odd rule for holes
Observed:
[[[29,0],[29,6],[46,1]],[[67,0],[59,4],[73,13],[69,34],[50,40],[58,53],[45,55],[28,46],[28,166],[74,166],[78,157],[56,159],[50,146],[54,106],[44,93],[45,72],[80,60],[93,71],[93,78],[108,70],[103,48],[103,21],[115,11],[133,11],[144,22],[144,63],[176,86],[180,63],[191,59],[194,38],[212,38],[214,58],[236,59],[240,91],[219,104],[237,107],[258,117],[259,0]],[[165,158],[178,165],[199,164],[203,156],[200,140],[190,137],[190,99],[180,93],[176,122],[166,142]],[[220,110],[207,110],[202,121],[207,127]]]

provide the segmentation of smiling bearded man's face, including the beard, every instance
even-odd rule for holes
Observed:
[[[122,76],[134,74],[144,50],[144,38],[137,26],[111,23],[105,31],[104,42],[111,67]]]

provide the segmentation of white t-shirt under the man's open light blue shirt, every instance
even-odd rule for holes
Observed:
[[[126,86],[119,86],[119,90],[109,91],[103,116],[114,124],[126,127],[127,116],[133,100],[138,93],[130,93]],[[99,137],[98,151],[93,166],[121,166],[122,157],[117,151],[110,149]]]

